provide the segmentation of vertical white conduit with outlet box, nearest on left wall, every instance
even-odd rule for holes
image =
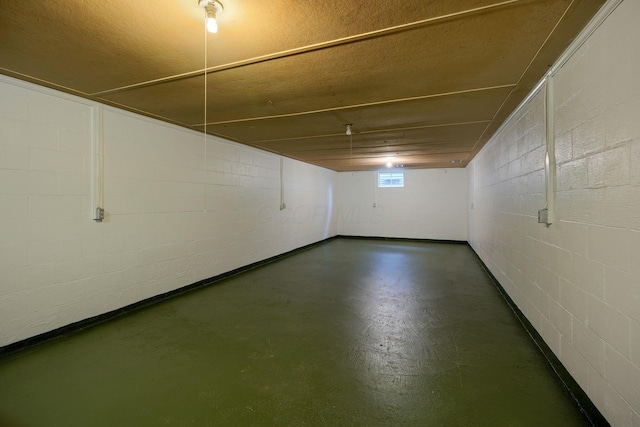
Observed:
[[[102,105],[91,107],[91,218],[104,219],[104,144]]]

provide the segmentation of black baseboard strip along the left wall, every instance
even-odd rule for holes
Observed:
[[[280,255],[275,255],[275,256],[272,256],[270,258],[263,259],[261,261],[256,261],[254,263],[245,265],[243,267],[238,267],[238,268],[236,268],[234,270],[227,271],[226,273],[222,273],[222,274],[219,274],[217,276],[209,277],[208,279],[203,279],[203,280],[200,280],[198,282],[192,283],[190,285],[186,285],[186,286],[183,286],[181,288],[174,289],[173,291],[169,291],[169,292],[165,292],[163,294],[159,294],[159,295],[155,295],[155,296],[152,296],[152,297],[149,297],[149,298],[145,298],[145,299],[143,299],[141,301],[138,301],[138,302],[135,302],[133,304],[129,304],[127,306],[124,306],[124,307],[121,307],[121,308],[118,308],[118,309],[115,309],[115,310],[112,310],[112,311],[109,311],[109,312],[106,312],[106,313],[103,313],[103,314],[99,314],[97,316],[89,317],[87,319],[79,320],[77,322],[70,323],[70,324],[65,325],[65,326],[61,326],[61,327],[56,328],[54,330],[51,330],[49,332],[45,332],[45,333],[42,333],[42,334],[35,335],[33,337],[29,337],[29,338],[25,338],[25,339],[20,340],[20,341],[16,341],[14,343],[5,345],[3,347],[0,347],[0,358],[4,357],[4,356],[7,356],[9,354],[16,353],[18,351],[26,350],[26,349],[34,347],[34,346],[36,346],[38,344],[42,344],[44,342],[51,341],[53,339],[56,339],[56,338],[59,338],[59,337],[62,337],[62,336],[71,335],[71,334],[79,332],[81,330],[91,328],[93,326],[99,325],[101,323],[107,322],[107,321],[115,319],[117,317],[129,314],[129,313],[131,313],[133,311],[141,310],[143,308],[149,307],[149,306],[157,304],[159,302],[166,301],[166,300],[168,300],[170,298],[173,298],[175,296],[182,295],[182,294],[184,294],[186,292],[190,292],[190,291],[193,291],[195,289],[202,288],[204,286],[210,286],[210,285],[216,284],[216,283],[218,283],[218,282],[220,282],[220,281],[222,281],[224,279],[227,279],[227,278],[229,278],[231,276],[235,276],[237,274],[244,273],[244,272],[252,270],[254,268],[258,268],[258,267],[261,267],[263,265],[272,263],[274,261],[278,261],[278,260],[280,260],[282,258],[286,258],[286,257],[289,257],[291,255],[295,255],[295,254],[300,253],[302,251],[306,251],[308,249],[311,249],[311,248],[313,248],[315,246],[323,245],[323,244],[325,244],[325,243],[327,243],[327,242],[329,242],[331,240],[334,240],[336,238],[338,238],[338,236],[328,237],[326,239],[323,239],[323,240],[320,240],[320,241],[317,241],[317,242],[314,242],[314,243],[310,243],[308,245],[301,246],[301,247],[296,248],[296,249],[292,249],[292,250],[290,250],[288,252],[285,252],[285,253],[282,253]]]

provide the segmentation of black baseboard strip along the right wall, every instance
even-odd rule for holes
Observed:
[[[571,376],[567,368],[564,367],[560,359],[555,355],[555,353],[551,350],[551,348],[547,345],[546,342],[542,339],[542,336],[538,333],[538,331],[533,327],[529,319],[524,315],[522,311],[518,308],[516,303],[511,299],[507,291],[504,290],[498,279],[491,273],[487,265],[482,261],[478,253],[469,245],[471,250],[473,251],[478,263],[487,274],[491,282],[494,284],[502,298],[507,302],[507,305],[513,311],[515,316],[518,318],[524,329],[527,331],[533,342],[536,344],[540,352],[544,355],[545,359],[551,366],[551,369],[558,376],[562,384],[564,385],[566,391],[569,393],[571,398],[576,402],[580,411],[584,414],[585,418],[591,423],[593,426],[610,426],[607,419],[602,415],[602,413],[598,410],[596,405],[593,404],[589,396],[582,390],[582,387],[576,382],[575,379]]]

